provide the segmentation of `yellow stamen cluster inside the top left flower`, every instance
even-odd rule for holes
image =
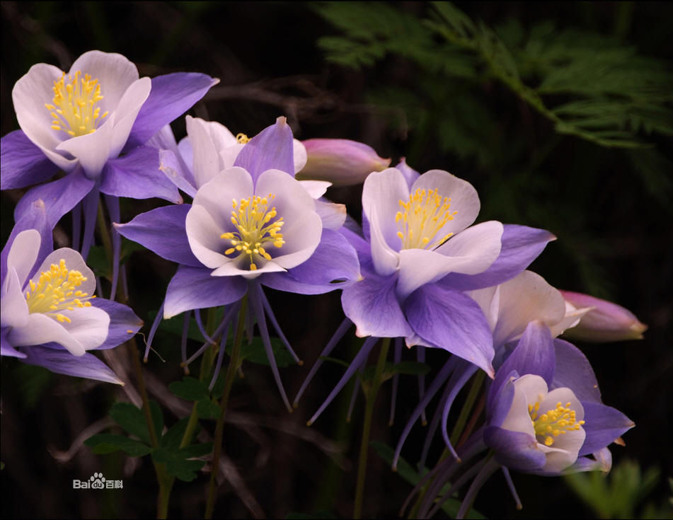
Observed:
[[[96,107],[96,103],[103,99],[98,79],[91,79],[88,74],[82,78],[81,74],[76,71],[74,78],[68,76],[67,83],[64,72],[59,81],[54,81],[53,104],[45,103],[54,118],[52,129],[62,130],[71,137],[96,132],[98,120],[108,115],[108,112],[100,115],[100,107]]]

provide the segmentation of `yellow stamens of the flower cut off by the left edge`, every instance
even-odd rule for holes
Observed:
[[[86,300],[96,298],[75,290],[82,282],[86,282],[86,277],[79,271],[68,270],[65,260],[61,259],[59,265],[52,264],[50,270],[42,271],[37,284],[30,280],[30,291],[25,291],[28,312],[46,314],[62,323],[70,323],[70,318],[58,311],[91,307],[91,302]]]

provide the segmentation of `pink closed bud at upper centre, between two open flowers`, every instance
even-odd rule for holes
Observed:
[[[297,173],[299,180],[328,180],[335,186],[348,186],[364,182],[373,171],[390,165],[367,144],[349,139],[308,139],[306,166]]]

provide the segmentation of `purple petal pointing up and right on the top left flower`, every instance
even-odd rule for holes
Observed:
[[[187,112],[219,79],[195,72],[152,78],[152,89],[133,124],[124,151],[145,144],[171,121]]]

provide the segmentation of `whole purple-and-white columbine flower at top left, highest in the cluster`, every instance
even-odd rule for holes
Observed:
[[[54,226],[84,199],[86,257],[98,192],[110,196],[113,214],[118,213],[115,197],[181,202],[176,187],[159,171],[159,152],[144,144],[217,81],[183,73],[139,78],[135,65],[121,54],[100,51],[82,54],[67,73],[44,63],[31,67],[12,91],[21,130],[2,138],[1,187],[41,183],[59,168],[68,175],[29,190],[15,219],[43,200]],[[75,235],[79,218],[78,208]]]

